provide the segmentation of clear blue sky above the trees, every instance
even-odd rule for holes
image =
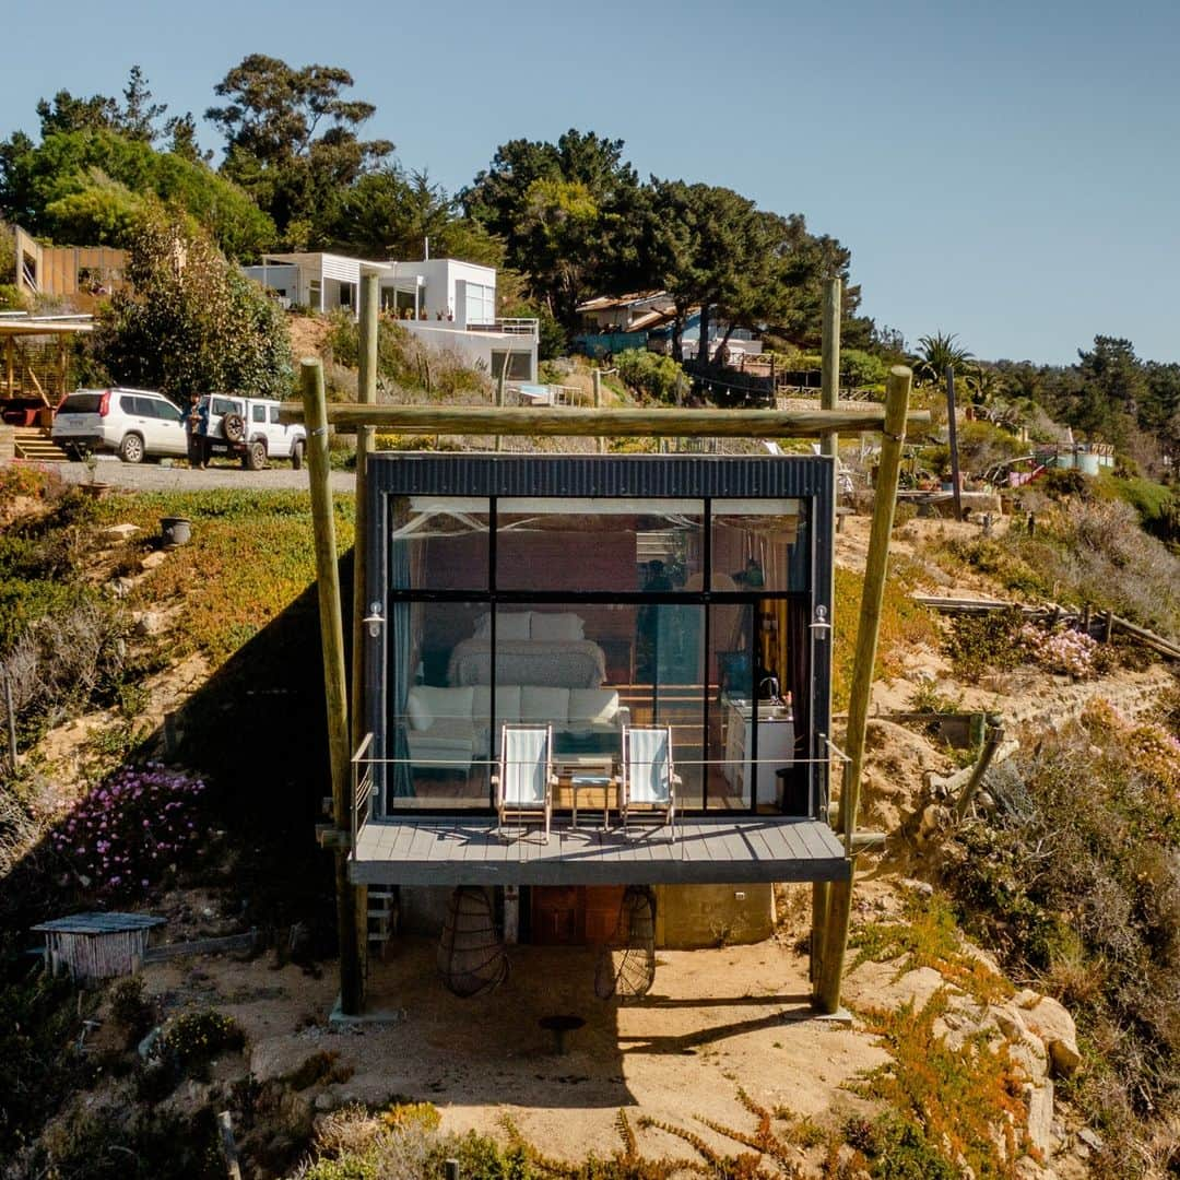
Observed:
[[[910,343],[1063,362],[1102,333],[1180,360],[1174,4],[55,0],[5,41],[0,136],[133,63],[196,114],[247,53],[341,65],[366,132],[450,190],[506,139],[594,130],[641,176],[805,214]]]

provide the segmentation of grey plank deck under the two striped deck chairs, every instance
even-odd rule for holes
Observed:
[[[677,820],[603,832],[555,822],[544,832],[496,830],[493,817],[406,817],[366,824],[348,861],[358,885],[729,885],[834,881],[852,863],[814,820],[771,817]]]

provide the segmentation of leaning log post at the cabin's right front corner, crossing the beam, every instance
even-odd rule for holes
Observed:
[[[865,729],[868,723],[868,699],[873,686],[873,663],[877,658],[877,638],[880,630],[881,602],[885,597],[885,576],[889,570],[890,532],[897,506],[897,480],[902,468],[902,448],[905,445],[905,420],[910,408],[912,374],[902,365],[890,369],[885,392],[885,432],[881,435],[880,468],[877,474],[877,499],[873,523],[868,535],[868,557],[865,564],[865,589],[860,599],[860,622],[857,628],[857,650],[852,666],[852,688],[848,699],[848,733],[845,753],[844,786],[840,791],[840,812],[837,826],[851,850],[857,828],[857,808],[860,805],[860,775],[865,760]],[[824,931],[822,975],[819,981],[818,1002],[824,1012],[840,1008],[840,983],[844,975],[844,955],[848,944],[848,923],[852,918],[852,881],[834,881],[830,889],[827,927]]]

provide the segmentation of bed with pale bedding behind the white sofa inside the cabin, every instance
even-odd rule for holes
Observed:
[[[483,616],[476,634],[454,645],[448,684],[491,684],[490,625]],[[584,638],[577,615],[505,612],[496,620],[496,671],[500,684],[598,688],[607,678],[607,657],[597,643]]]

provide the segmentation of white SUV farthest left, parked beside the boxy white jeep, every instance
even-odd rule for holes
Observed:
[[[74,455],[114,451],[124,463],[188,453],[184,412],[151,389],[78,389],[53,415],[53,441]]]

